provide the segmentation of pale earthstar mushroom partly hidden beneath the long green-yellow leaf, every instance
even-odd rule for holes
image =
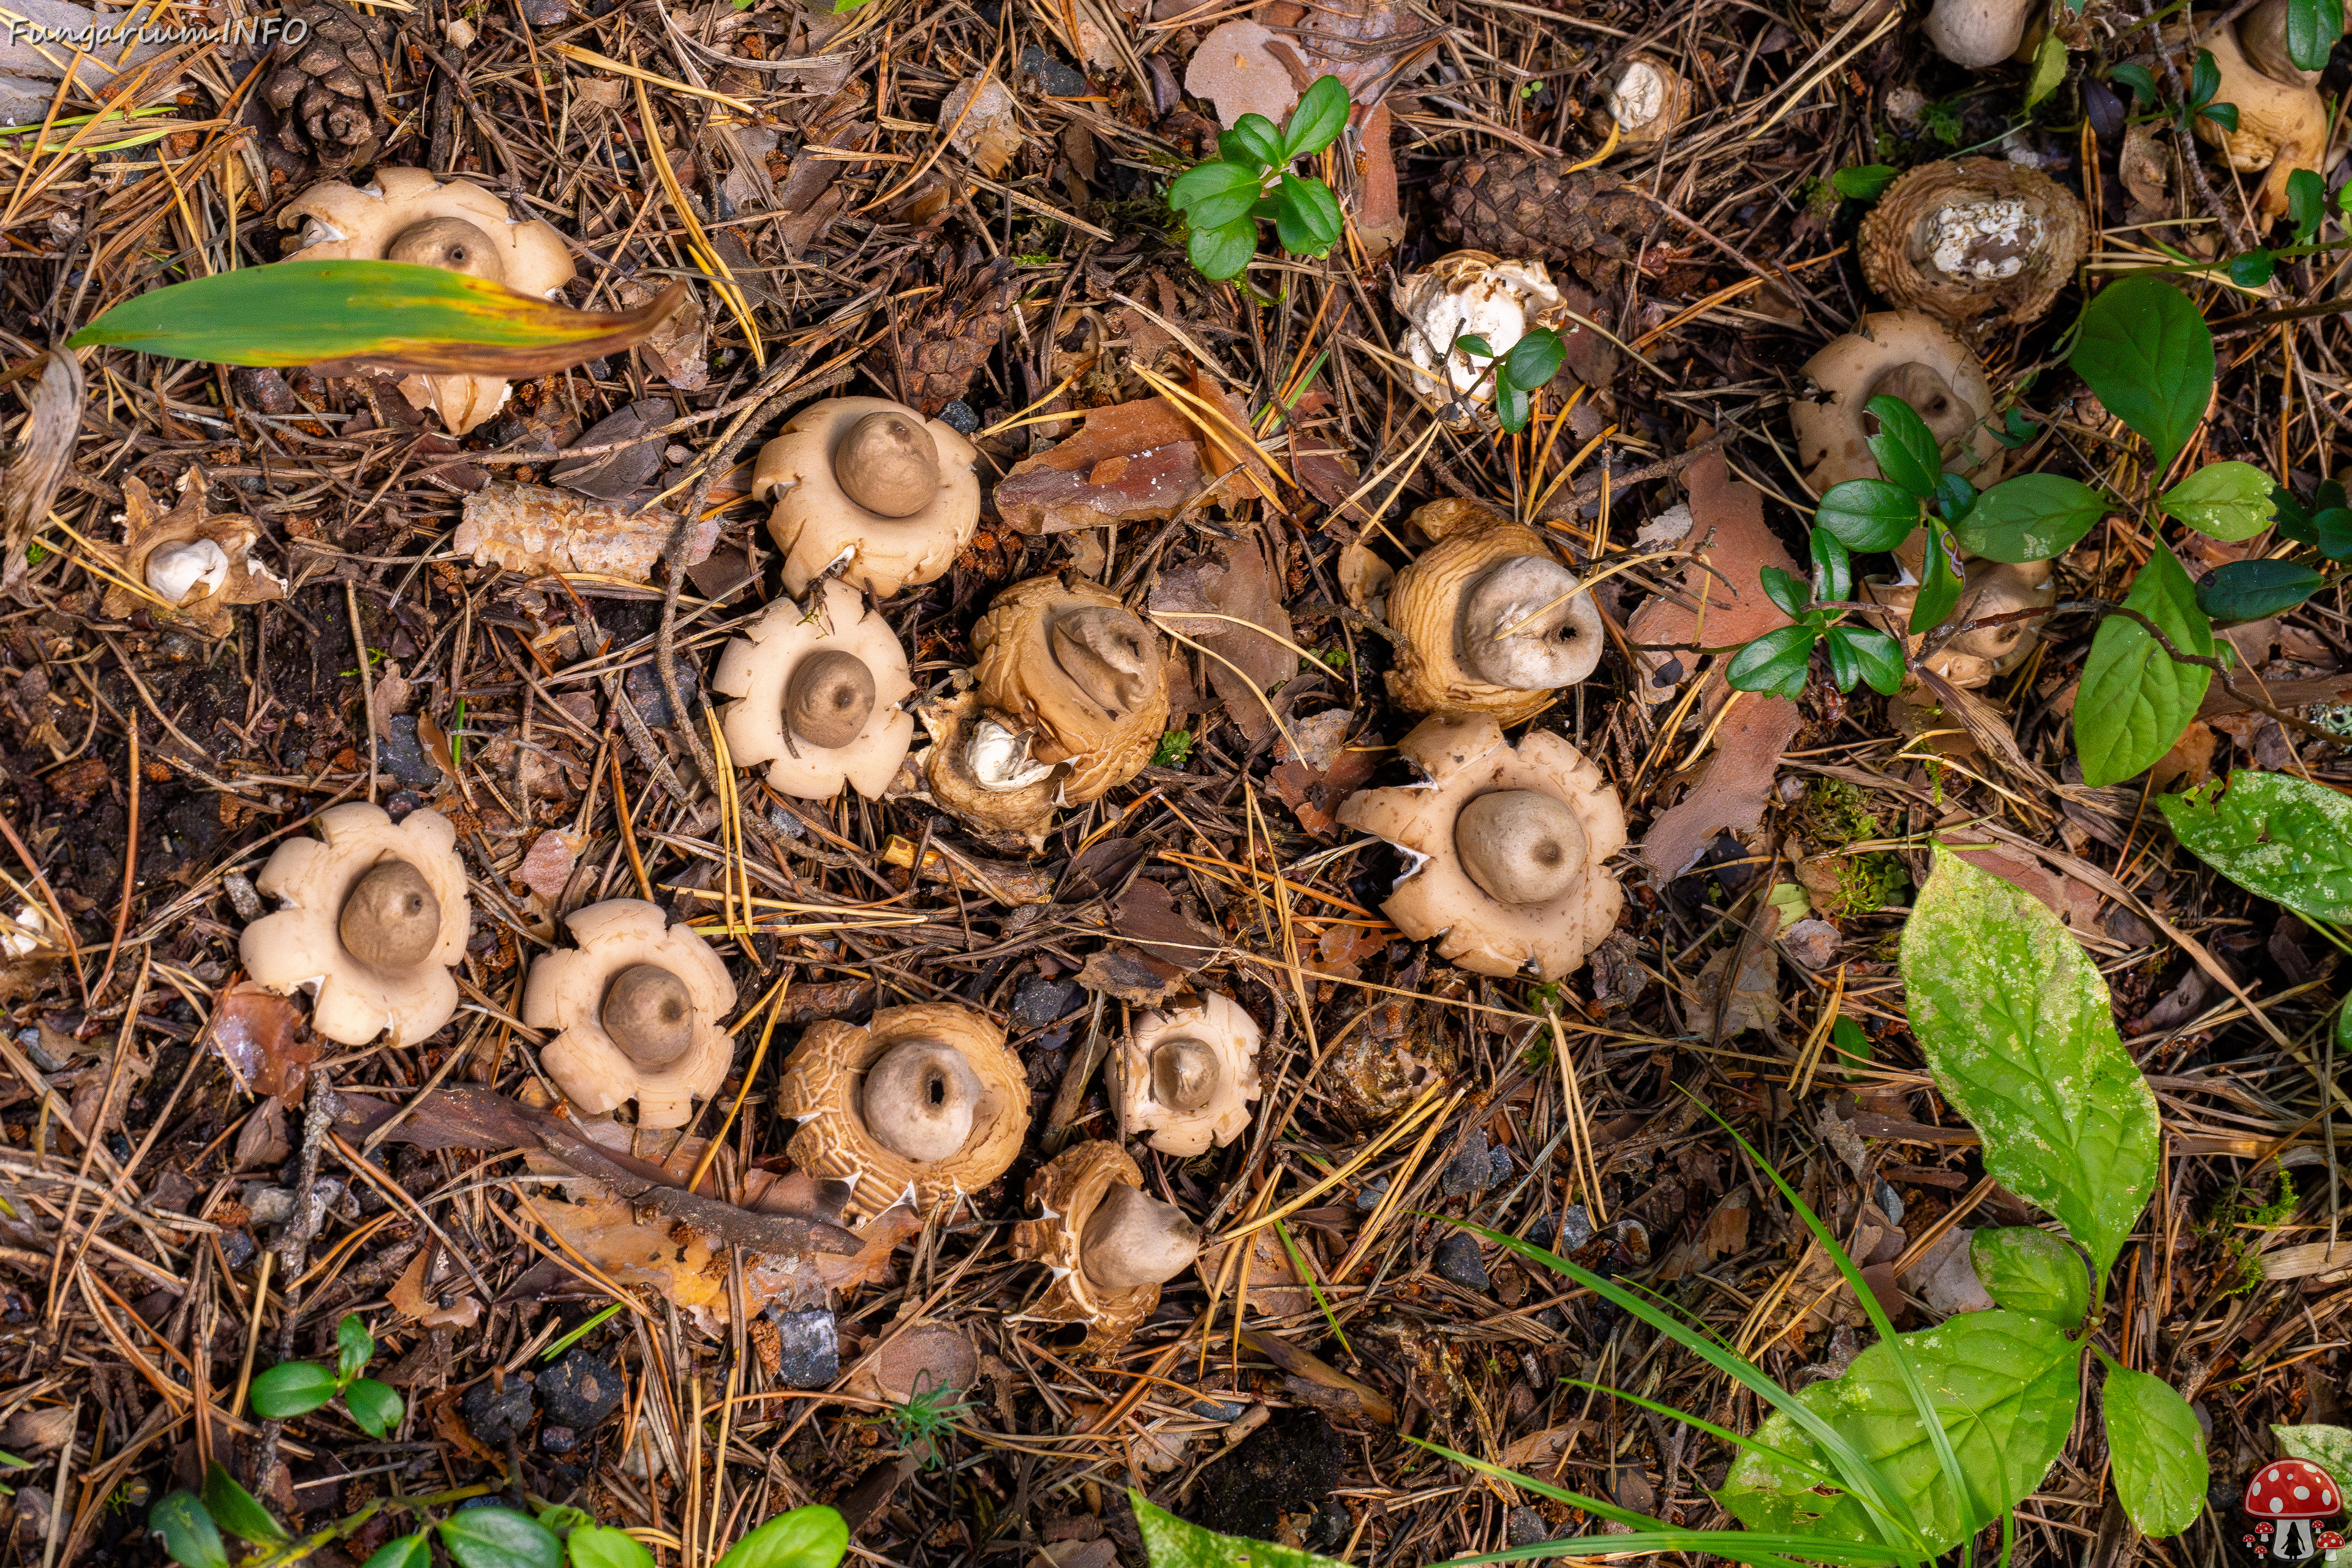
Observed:
[[[572,252],[548,223],[506,216],[506,202],[461,179],[423,169],[376,169],[367,186],[327,181],[287,202],[278,221],[301,221],[287,261],[412,261],[555,299],[572,282]],[[466,435],[506,404],[499,376],[405,376],[400,395]]]

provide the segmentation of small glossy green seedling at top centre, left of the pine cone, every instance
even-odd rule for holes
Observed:
[[[1216,158],[1176,176],[1169,207],[1185,216],[1185,254],[1202,277],[1240,277],[1258,254],[1258,221],[1275,221],[1275,237],[1291,256],[1329,256],[1338,244],[1338,197],[1319,179],[1291,174],[1301,158],[1322,153],[1348,125],[1348,87],[1336,75],[1315,78],[1291,122],[1275,129],[1265,115],[1242,115],[1216,139]]]

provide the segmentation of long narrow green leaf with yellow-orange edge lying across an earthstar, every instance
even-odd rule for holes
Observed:
[[[68,339],[167,360],[546,376],[642,341],[687,303],[670,284],[637,310],[550,306],[487,277],[409,261],[278,261],[127,299]]]

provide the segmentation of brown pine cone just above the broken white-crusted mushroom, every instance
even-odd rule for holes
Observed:
[[[1609,289],[1658,223],[1658,209],[1613,174],[1564,160],[1494,153],[1449,162],[1437,179],[1437,233],[1512,261],[1571,266]]]

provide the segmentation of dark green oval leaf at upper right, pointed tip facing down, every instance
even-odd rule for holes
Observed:
[[[2154,447],[2157,473],[2173,465],[2213,397],[2213,331],[2187,294],[2147,273],[2117,277],[2084,306],[2067,364]]]

